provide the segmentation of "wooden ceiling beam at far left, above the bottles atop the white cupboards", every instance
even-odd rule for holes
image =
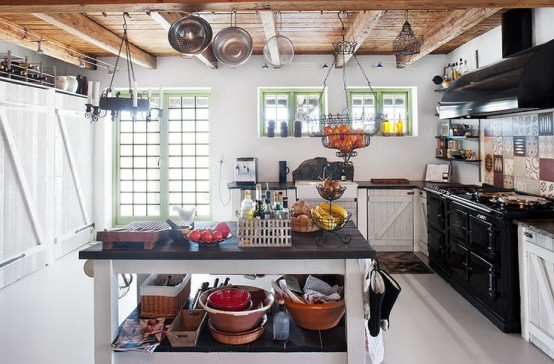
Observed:
[[[46,41],[42,42],[41,47],[45,55],[76,66],[79,66],[79,57],[81,56],[92,59],[92,57],[88,57],[76,50],[73,50],[71,47],[61,46],[54,40],[41,34],[36,34],[36,32],[30,34],[24,27],[21,27],[20,25],[10,22],[4,18],[0,18],[0,39],[8,40],[10,43],[31,50],[37,49],[37,43],[33,43],[32,41],[44,39]],[[96,69],[96,66],[93,63],[85,62],[85,68],[94,70]]]

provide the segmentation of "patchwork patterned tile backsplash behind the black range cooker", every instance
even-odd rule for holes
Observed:
[[[485,183],[554,198],[554,112],[482,122]]]

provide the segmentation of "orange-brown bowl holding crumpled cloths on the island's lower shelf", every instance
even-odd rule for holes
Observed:
[[[296,322],[296,325],[308,330],[328,330],[339,323],[344,315],[344,300],[305,304],[285,300],[285,307]]]

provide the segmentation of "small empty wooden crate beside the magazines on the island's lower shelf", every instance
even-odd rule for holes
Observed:
[[[167,338],[171,346],[196,346],[206,316],[205,310],[179,311],[167,330]]]

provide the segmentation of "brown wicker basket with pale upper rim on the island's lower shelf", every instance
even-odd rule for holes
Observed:
[[[189,295],[190,274],[151,274],[140,285],[140,316],[174,318]]]

